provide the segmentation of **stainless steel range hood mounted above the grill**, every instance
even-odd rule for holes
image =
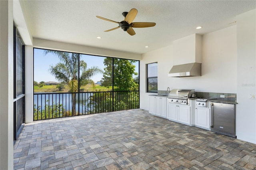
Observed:
[[[168,77],[201,76],[201,63],[188,63],[174,65],[168,73]]]

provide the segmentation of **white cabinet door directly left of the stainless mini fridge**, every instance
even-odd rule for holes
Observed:
[[[210,129],[210,109],[196,108],[196,126]]]

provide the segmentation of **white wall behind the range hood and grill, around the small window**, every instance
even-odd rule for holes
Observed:
[[[184,49],[185,50],[185,49]],[[158,90],[195,89],[198,92],[236,93],[236,26],[202,37],[202,76],[168,77],[173,65],[172,45],[142,55],[140,108],[148,110],[146,64],[158,62]],[[185,61],[184,61],[185,62]]]

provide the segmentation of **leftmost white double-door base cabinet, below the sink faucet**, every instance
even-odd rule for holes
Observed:
[[[149,113],[166,118],[166,97],[150,96]]]

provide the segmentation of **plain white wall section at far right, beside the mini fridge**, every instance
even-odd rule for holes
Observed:
[[[237,138],[256,143],[256,10],[237,16]]]

